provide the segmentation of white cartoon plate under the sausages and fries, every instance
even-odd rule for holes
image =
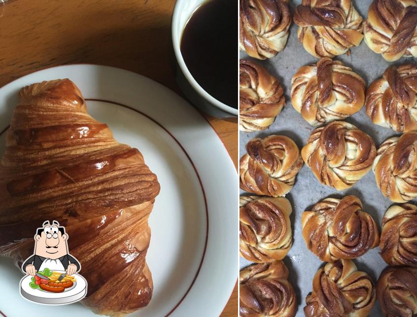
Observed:
[[[65,271],[57,271],[64,273]],[[27,275],[20,280],[20,293],[26,299],[40,304],[63,305],[71,304],[82,298],[87,293],[87,281],[79,274],[74,274],[75,282],[70,288],[65,288],[61,293],[52,293],[39,288],[31,288],[32,277]]]

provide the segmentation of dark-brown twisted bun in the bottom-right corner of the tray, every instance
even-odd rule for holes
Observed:
[[[377,297],[384,317],[417,315],[417,268],[387,267],[377,283]]]

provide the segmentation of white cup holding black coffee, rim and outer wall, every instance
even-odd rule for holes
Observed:
[[[238,116],[238,109],[222,103],[204,90],[191,75],[185,65],[184,58],[182,58],[181,55],[181,36],[185,24],[188,22],[188,19],[193,12],[206,1],[207,0],[177,0],[175,4],[171,21],[171,31],[175,58],[177,60],[177,82],[187,98],[196,107],[200,108],[209,115],[219,118],[236,117]],[[236,39],[236,41],[237,40],[238,39]],[[237,53],[236,56],[238,56]],[[236,71],[238,71],[237,66]],[[238,83],[236,83],[236,89],[238,89],[237,87]],[[238,91],[236,91],[236,95],[237,94]]]

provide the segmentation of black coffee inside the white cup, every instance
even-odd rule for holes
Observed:
[[[209,0],[190,17],[181,54],[191,75],[211,96],[238,108],[238,4]]]

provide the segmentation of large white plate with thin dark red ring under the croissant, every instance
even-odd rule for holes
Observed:
[[[68,65],[0,88],[0,131],[9,124],[22,86],[57,78],[69,78],[81,89],[89,113],[107,123],[119,142],[137,147],[161,184],[149,218],[153,296],[133,316],[218,316],[237,280],[238,174],[214,130],[186,101],[146,77]],[[4,143],[2,133],[0,155]],[[93,315],[80,303],[62,310],[23,299],[22,273],[10,259],[0,259],[0,276],[0,310],[6,316]]]

